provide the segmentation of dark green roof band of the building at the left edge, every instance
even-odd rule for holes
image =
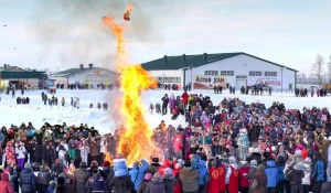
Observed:
[[[45,72],[0,72],[0,76],[2,79],[21,79],[21,78],[47,78]]]

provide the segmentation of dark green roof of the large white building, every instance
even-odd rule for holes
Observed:
[[[172,69],[183,69],[183,68],[191,68],[191,67],[197,67],[205,64],[210,64],[213,62],[226,60],[229,57],[234,57],[237,55],[248,55],[252,57],[255,57],[257,60],[265,61],[267,63],[285,67],[280,64],[276,64],[274,62],[256,57],[254,55],[246,54],[244,52],[235,52],[235,53],[218,53],[218,54],[197,54],[197,55],[185,55],[185,60],[183,60],[183,55],[177,55],[177,56],[164,56],[154,61],[150,61],[147,63],[142,63],[141,66],[147,71],[172,71]],[[289,68],[290,71],[298,72],[296,69]]]

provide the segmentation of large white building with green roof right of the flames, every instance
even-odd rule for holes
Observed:
[[[192,85],[193,89],[211,89],[215,85],[239,89],[263,84],[274,89],[296,87],[298,71],[246,53],[221,53],[167,56],[147,62],[142,67],[159,83]]]

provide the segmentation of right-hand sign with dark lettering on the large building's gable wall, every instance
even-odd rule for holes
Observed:
[[[282,84],[282,89],[289,89],[288,77],[260,77],[260,76],[249,76],[247,79],[247,85],[265,85],[270,86],[276,89],[280,89]]]

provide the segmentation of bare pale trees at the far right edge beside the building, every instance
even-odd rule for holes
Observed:
[[[320,86],[322,86],[323,73],[324,73],[323,71],[324,71],[325,63],[327,63],[327,74],[329,76],[330,84],[331,84],[331,55],[329,55],[329,62],[325,62],[324,57],[321,54],[318,54],[316,57],[316,62],[311,65],[311,71],[317,75]]]

